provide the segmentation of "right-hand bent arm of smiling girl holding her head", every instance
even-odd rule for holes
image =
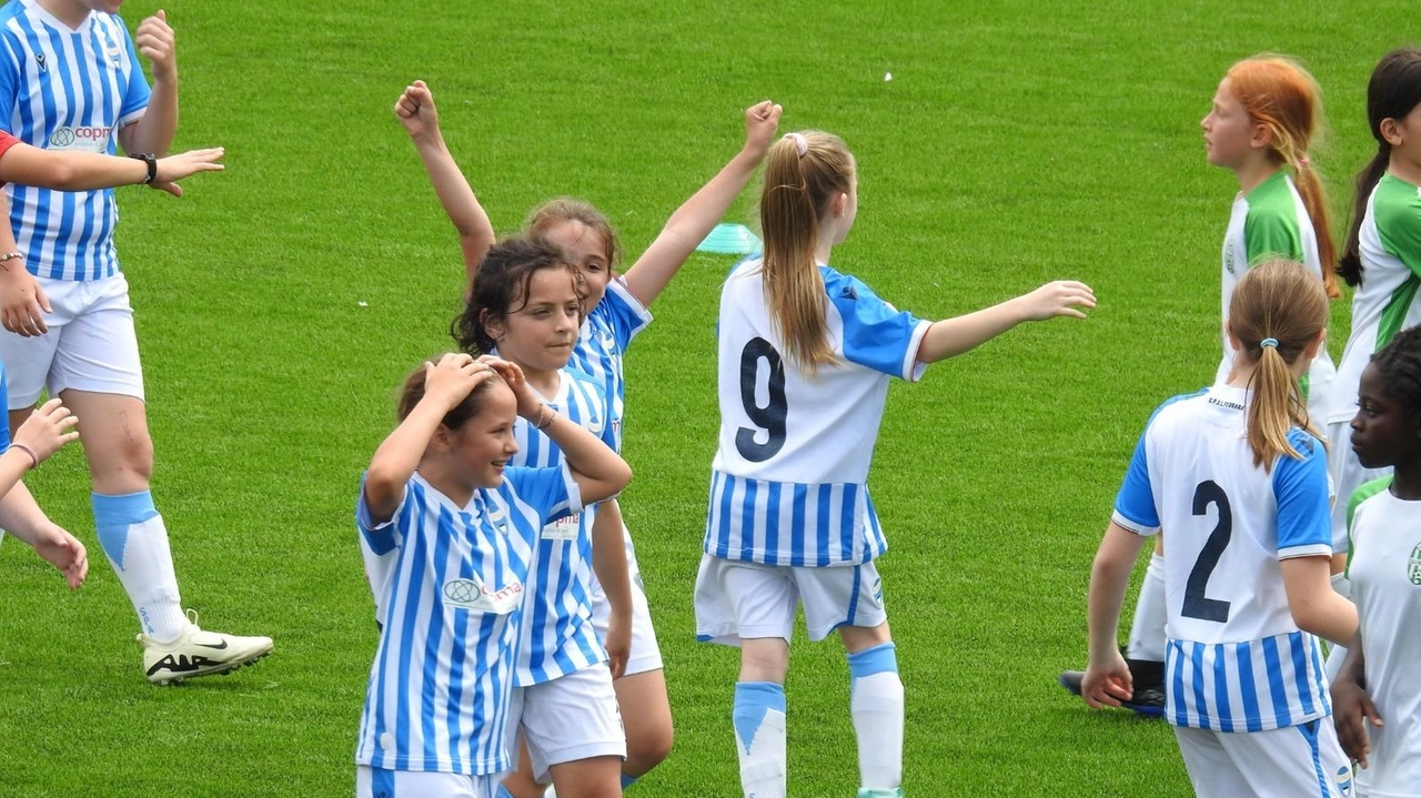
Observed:
[[[517,364],[489,355],[479,358],[479,361],[497,369],[503,381],[513,389],[513,396],[519,403],[519,416],[551,437],[553,443],[563,450],[563,457],[567,459],[567,467],[573,471],[573,479],[577,480],[577,490],[581,493],[584,505],[612,498],[627,487],[627,483],[631,481],[631,466],[600,437],[549,408],[529,386],[523,378],[523,369]]]

